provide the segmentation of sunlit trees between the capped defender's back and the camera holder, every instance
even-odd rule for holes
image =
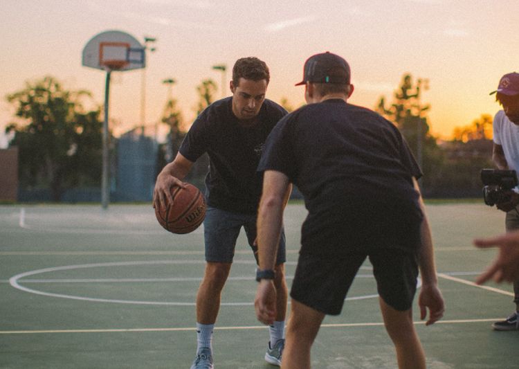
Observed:
[[[455,128],[452,141],[440,140],[430,132],[430,105],[420,102],[427,82],[413,84],[412,76],[404,74],[392,104],[386,108],[382,97],[375,110],[399,127],[417,157],[424,197],[481,197],[480,171],[493,168],[492,118],[483,114],[471,125]]]

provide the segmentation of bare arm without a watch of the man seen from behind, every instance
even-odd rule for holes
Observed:
[[[416,179],[413,179],[413,181],[415,182],[415,189],[420,192]],[[427,309],[429,310],[429,319],[426,321],[426,325],[430,325],[439,321],[439,319],[444,316],[445,303],[438,288],[432,233],[430,231],[429,219],[421,195],[419,201],[422,213],[424,213],[424,221],[421,223],[419,268],[422,285],[418,297],[418,305],[420,306],[420,318],[422,321],[427,317]]]

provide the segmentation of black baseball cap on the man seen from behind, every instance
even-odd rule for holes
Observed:
[[[337,75],[328,75],[328,72],[332,68],[343,69],[347,77],[338,77]],[[301,84],[312,83],[336,83],[336,84],[349,84],[349,78],[351,72],[349,71],[349,65],[342,57],[335,55],[327,51],[326,53],[316,54],[308,58],[304,63],[304,74],[303,80],[295,86]]]

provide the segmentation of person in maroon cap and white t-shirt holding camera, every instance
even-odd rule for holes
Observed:
[[[507,73],[502,76],[495,100],[502,106],[493,120],[492,161],[499,170],[519,170],[519,73]],[[509,191],[510,198],[496,204],[507,213],[505,228],[507,233],[519,230],[519,194]],[[499,258],[499,257],[498,257]],[[519,330],[519,278],[513,280],[516,311],[506,320],[493,323],[495,330]]]

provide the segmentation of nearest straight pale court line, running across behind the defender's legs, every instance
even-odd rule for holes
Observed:
[[[491,321],[499,321],[502,318],[493,319],[462,319],[452,321],[437,321],[435,324],[453,324],[453,323],[486,323]],[[425,324],[425,321],[414,322],[415,325]],[[376,327],[382,326],[384,323],[337,323],[322,324],[321,327]],[[268,325],[250,325],[244,327],[215,327],[215,330],[264,330]],[[19,331],[0,331],[0,334],[39,334],[39,333],[125,333],[125,332],[181,332],[194,331],[197,327],[189,328],[129,328],[129,329],[107,329],[107,330],[19,330]]]

